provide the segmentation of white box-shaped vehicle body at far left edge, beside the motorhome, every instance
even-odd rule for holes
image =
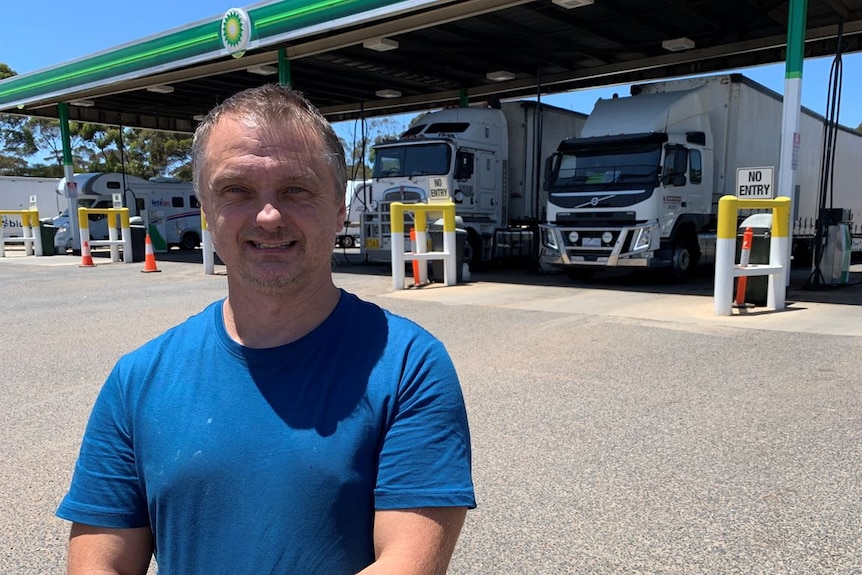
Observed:
[[[31,176],[0,176],[0,211],[30,209],[30,198],[36,198],[39,218],[49,221],[66,209],[66,198],[58,190],[60,178]],[[21,218],[3,215],[2,234],[6,237],[21,237]]]

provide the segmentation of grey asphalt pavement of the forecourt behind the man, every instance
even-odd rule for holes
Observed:
[[[0,259],[0,574],[63,572],[53,513],[108,370],[225,293],[199,254],[157,259]],[[724,317],[707,275],[394,291],[385,266],[335,261],[458,368],[479,506],[450,573],[862,573],[862,271],[813,289],[794,270],[786,310]]]

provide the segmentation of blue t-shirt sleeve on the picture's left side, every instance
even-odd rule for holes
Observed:
[[[57,509],[59,517],[117,529],[149,525],[130,425],[115,367],[90,414],[71,487]]]

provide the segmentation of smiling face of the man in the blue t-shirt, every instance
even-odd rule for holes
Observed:
[[[231,288],[295,294],[329,285],[345,210],[321,139],[294,121],[223,116],[203,156],[201,204]]]

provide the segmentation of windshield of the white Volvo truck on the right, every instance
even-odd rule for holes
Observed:
[[[581,148],[563,152],[557,162],[551,188],[611,183],[655,185],[660,162],[661,147],[658,145]]]

